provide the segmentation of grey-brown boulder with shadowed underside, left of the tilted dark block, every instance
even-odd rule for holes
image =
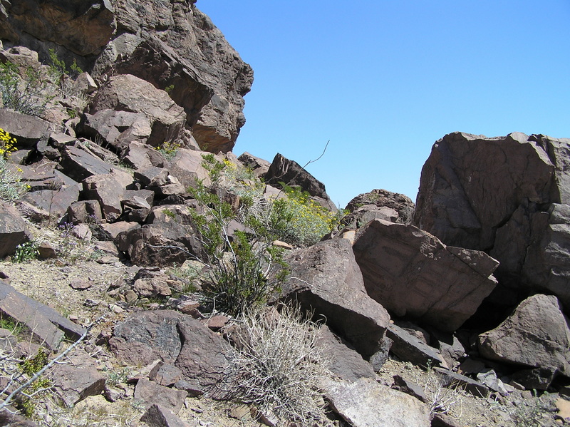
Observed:
[[[285,299],[301,309],[324,317],[364,357],[380,349],[390,317],[368,297],[350,242],[335,239],[318,242],[286,257],[291,279],[283,285]]]

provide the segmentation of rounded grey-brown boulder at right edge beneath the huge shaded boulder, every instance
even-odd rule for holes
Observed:
[[[487,359],[570,374],[569,320],[553,295],[525,299],[502,324],[479,336]]]

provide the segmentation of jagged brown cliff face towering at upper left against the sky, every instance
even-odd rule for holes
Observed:
[[[245,123],[252,68],[188,0],[14,0],[0,4],[4,47],[28,46],[46,61],[53,48],[98,83],[133,74],[169,89],[185,129],[202,150],[232,150]]]

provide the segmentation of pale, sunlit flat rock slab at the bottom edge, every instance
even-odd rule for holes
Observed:
[[[372,379],[331,381],[325,396],[353,427],[430,427],[425,404]]]

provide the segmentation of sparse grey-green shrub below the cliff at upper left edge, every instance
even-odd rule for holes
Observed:
[[[53,96],[46,93],[47,83],[40,68],[23,71],[10,62],[0,63],[0,93],[4,108],[28,115],[42,115]]]

